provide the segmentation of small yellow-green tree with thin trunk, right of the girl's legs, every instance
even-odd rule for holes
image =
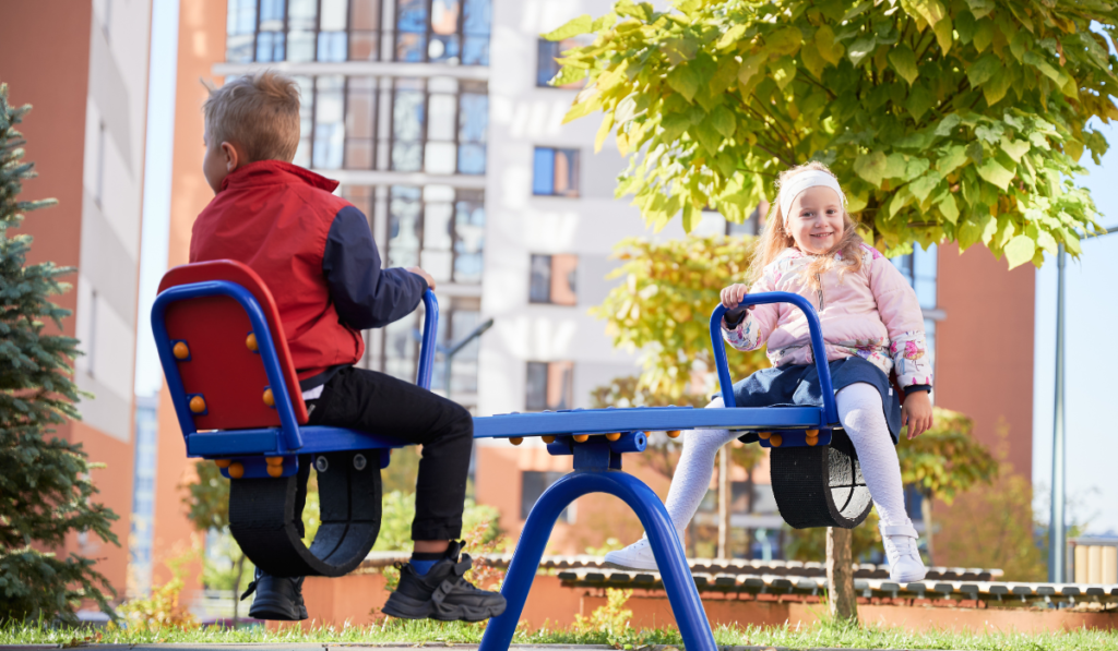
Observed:
[[[901,480],[916,485],[923,497],[920,511],[930,564],[935,564],[932,502],[951,504],[955,496],[978,484],[993,484],[998,473],[997,460],[970,435],[973,429],[968,417],[937,406],[931,429],[911,441],[902,439],[897,448]]]

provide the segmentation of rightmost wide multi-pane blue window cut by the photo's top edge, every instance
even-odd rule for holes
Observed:
[[[490,0],[397,0],[396,60],[489,65]]]

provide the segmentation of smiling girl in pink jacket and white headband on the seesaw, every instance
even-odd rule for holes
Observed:
[[[897,582],[920,581],[923,562],[917,533],[904,513],[898,435],[931,427],[931,364],[926,355],[923,317],[916,293],[881,253],[862,242],[846,213],[846,198],[822,163],[807,163],[780,174],[779,193],[766,221],[750,276],[751,288],[731,285],[722,305],[737,307],[749,291],[790,291],[806,297],[823,326],[835,401],[843,429],[861,460],[865,484],[881,518],[889,575]],[[722,320],[722,336],[739,351],[768,344],[773,368],[733,385],[738,406],[819,404],[818,375],[807,319],[787,304],[749,307],[735,323]],[[897,372],[907,399],[903,409],[888,375]],[[717,398],[709,406],[722,406]],[[667,513],[680,539],[707,494],[718,449],[740,432],[699,430],[683,440]],[[742,437],[757,440],[756,433]],[[656,569],[647,538],[606,555],[623,569]]]

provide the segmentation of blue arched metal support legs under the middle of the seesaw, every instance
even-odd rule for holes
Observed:
[[[675,622],[688,651],[717,651],[710,622],[699,599],[683,546],[664,504],[643,481],[625,472],[579,470],[551,485],[528,514],[520,543],[509,565],[501,594],[509,605],[504,613],[490,620],[479,651],[506,651],[524,609],[524,601],[539,569],[543,548],[562,509],[575,499],[590,492],[607,492],[620,498],[636,513],[648,534],[652,553],[660,566],[664,591],[675,615]]]

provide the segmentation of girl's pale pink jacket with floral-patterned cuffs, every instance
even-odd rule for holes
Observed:
[[[901,272],[873,247],[862,245],[862,269],[846,272],[839,281],[837,269],[823,274],[819,289],[800,278],[813,258],[789,248],[767,266],[749,288],[789,291],[815,306],[823,328],[827,361],[859,355],[885,375],[897,371],[901,387],[931,384],[931,360],[927,354],[923,316],[916,291]],[[722,336],[739,351],[768,344],[774,366],[812,364],[807,319],[793,305],[758,305],[733,329],[722,327]]]

